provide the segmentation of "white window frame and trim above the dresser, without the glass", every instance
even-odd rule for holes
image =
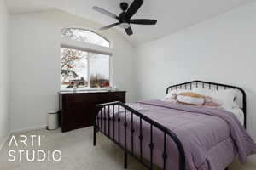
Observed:
[[[71,27],[73,28],[73,27]],[[65,29],[65,28],[64,28]],[[90,30],[87,30],[87,29],[83,29],[83,28],[73,28],[73,29],[81,29],[81,30],[85,30],[85,31],[90,31]],[[60,46],[60,52],[61,52],[61,48],[72,48],[72,49],[77,49],[77,50],[80,50],[80,51],[84,51],[84,52],[87,52],[88,55],[90,53],[93,53],[93,54],[104,54],[104,55],[108,55],[109,56],[109,87],[112,86],[112,80],[113,80],[113,59],[112,59],[112,56],[113,56],[113,49],[111,48],[111,45],[112,43],[106,38],[106,37],[103,37],[102,35],[96,33],[95,31],[90,31],[92,33],[95,33],[97,36],[100,36],[102,38],[104,38],[106,41],[109,42],[109,48],[108,47],[104,47],[104,46],[101,46],[101,45],[96,45],[96,44],[93,44],[93,43],[89,43],[89,42],[83,42],[83,41],[75,41],[75,40],[72,40],[72,39],[69,39],[67,37],[62,37],[61,36],[61,46]],[[61,54],[60,54],[60,59],[61,59]],[[61,62],[60,62],[60,65],[61,65]],[[90,57],[88,59],[88,78],[89,78],[89,83],[88,83],[88,88],[78,88],[77,90],[78,91],[105,91],[107,90],[108,88],[90,88]],[[61,82],[61,76],[60,76],[60,82]],[[60,88],[61,88],[61,85],[60,85]],[[69,92],[69,91],[73,91],[73,88],[67,88],[67,89],[62,89],[61,88],[61,91],[64,91],[64,92]]]

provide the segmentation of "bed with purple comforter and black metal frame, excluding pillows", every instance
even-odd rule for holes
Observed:
[[[161,100],[134,104],[113,102],[96,106],[93,144],[101,132],[148,169],[223,170],[236,156],[245,162],[256,153],[247,134],[246,94],[243,89],[214,82],[193,81],[167,88],[237,89],[240,110],[224,111]],[[239,118],[240,117],[240,118]],[[243,122],[243,123],[242,123]],[[242,127],[242,124],[244,127]]]

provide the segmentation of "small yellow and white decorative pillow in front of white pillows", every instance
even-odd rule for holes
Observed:
[[[177,95],[177,102],[187,105],[203,105],[205,103],[205,96],[192,92],[180,93]]]

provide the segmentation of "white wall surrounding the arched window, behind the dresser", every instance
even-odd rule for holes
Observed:
[[[42,127],[46,113],[58,110],[61,29],[101,27],[73,14],[47,11],[11,15],[11,130]],[[113,44],[113,82],[134,100],[134,48],[115,31],[100,32]]]

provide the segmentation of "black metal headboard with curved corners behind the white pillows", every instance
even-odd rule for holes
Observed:
[[[215,88],[216,90],[223,88],[223,89],[227,89],[227,88],[233,88],[233,89],[237,89],[240,93],[241,93],[241,109],[243,111],[244,114],[244,127],[247,127],[247,97],[246,97],[246,93],[242,88],[236,87],[236,86],[231,86],[231,85],[227,85],[227,84],[220,84],[220,83],[216,83],[216,82],[204,82],[204,81],[192,81],[192,82],[183,82],[181,84],[176,84],[176,85],[172,85],[170,87],[167,88],[166,90],[166,94],[169,94],[169,91],[174,90],[174,89],[192,89],[192,88]]]

